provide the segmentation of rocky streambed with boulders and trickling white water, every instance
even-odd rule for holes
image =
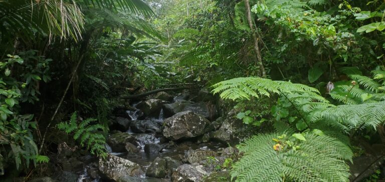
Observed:
[[[60,172],[38,181],[230,181],[231,145],[247,137],[233,111],[221,116],[217,98],[165,92],[126,107],[110,121],[105,159],[58,147]]]

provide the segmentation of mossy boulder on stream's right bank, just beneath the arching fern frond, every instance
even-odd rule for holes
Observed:
[[[252,132],[248,131],[248,126],[243,124],[241,119],[235,117],[236,114],[235,110],[230,111],[221,127],[210,132],[210,139],[235,145],[244,138],[249,137]]]

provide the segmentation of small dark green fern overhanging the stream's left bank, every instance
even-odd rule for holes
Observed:
[[[105,157],[106,154],[106,138],[102,134],[104,127],[100,124],[92,124],[97,121],[93,118],[88,118],[77,124],[77,112],[71,115],[71,119],[67,122],[58,124],[58,128],[66,133],[73,133],[74,139],[80,141],[80,145],[86,146],[92,154]]]

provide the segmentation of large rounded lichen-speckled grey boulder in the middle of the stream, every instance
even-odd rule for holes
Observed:
[[[210,121],[193,111],[184,111],[165,119],[163,126],[163,135],[166,138],[178,140],[205,134]]]

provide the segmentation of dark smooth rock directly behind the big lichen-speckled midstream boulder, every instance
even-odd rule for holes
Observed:
[[[180,100],[171,104],[163,105],[164,115],[170,117],[178,112],[193,111],[203,115],[206,119],[214,120],[217,116],[216,106],[206,102],[192,102]]]

